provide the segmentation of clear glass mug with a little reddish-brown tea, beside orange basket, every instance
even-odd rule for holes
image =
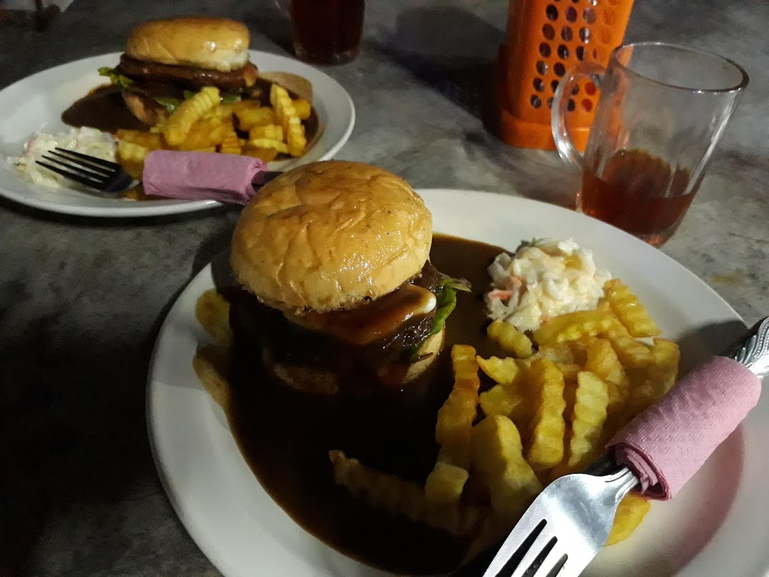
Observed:
[[[584,157],[566,113],[601,90]],[[581,85],[581,88],[580,88]],[[747,86],[747,73],[711,52],[662,42],[614,49],[607,68],[580,62],[554,95],[552,131],[564,161],[582,171],[577,208],[662,245],[697,192],[708,159]]]

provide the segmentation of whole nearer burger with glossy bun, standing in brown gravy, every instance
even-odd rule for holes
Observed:
[[[235,359],[335,394],[403,389],[434,365],[466,282],[429,261],[432,218],[402,178],[315,162],[260,189],[232,235]]]

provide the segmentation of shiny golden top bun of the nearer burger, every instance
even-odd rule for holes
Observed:
[[[432,216],[396,175],[358,162],[314,162],[265,185],[244,208],[230,262],[276,309],[352,309],[418,275]]]

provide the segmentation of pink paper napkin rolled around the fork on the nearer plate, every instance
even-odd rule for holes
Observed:
[[[714,357],[633,419],[607,447],[651,499],[671,499],[758,402],[761,380]]]

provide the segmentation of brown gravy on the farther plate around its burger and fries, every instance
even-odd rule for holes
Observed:
[[[269,82],[257,81],[257,85],[262,88],[262,94],[269,94]],[[265,88],[266,85],[266,88]],[[293,92],[291,98],[298,98]],[[269,105],[268,96],[261,98],[262,105]],[[66,125],[81,128],[88,126],[97,128],[102,132],[115,134],[118,130],[149,130],[148,125],[136,118],[122,96],[122,89],[118,86],[105,85],[94,88],[83,98],[79,98],[72,105],[62,112],[62,122]],[[307,142],[311,143],[318,133],[320,125],[318,121],[318,112],[311,108],[310,118],[302,122],[305,125],[305,136]],[[278,159],[288,158],[288,155],[278,155]]]

